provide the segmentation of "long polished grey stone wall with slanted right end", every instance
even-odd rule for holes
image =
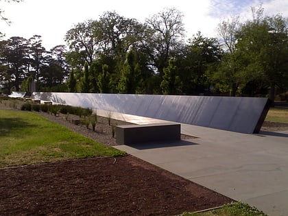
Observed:
[[[32,93],[33,99],[241,133],[258,133],[267,98],[93,93]]]

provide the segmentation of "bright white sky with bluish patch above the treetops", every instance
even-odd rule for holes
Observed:
[[[198,31],[210,38],[217,37],[216,29],[221,21],[237,15],[243,21],[250,19],[251,7],[261,4],[265,15],[288,17],[287,0],[23,0],[20,3],[0,0],[0,9],[11,21],[10,25],[0,21],[0,32],[5,34],[5,39],[40,35],[43,47],[49,50],[65,45],[64,36],[75,24],[98,20],[107,11],[144,23],[165,8],[176,8],[184,14],[187,39]]]

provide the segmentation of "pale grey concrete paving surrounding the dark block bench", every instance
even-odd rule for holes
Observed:
[[[101,110],[97,114],[106,116]],[[165,122],[121,113],[113,113],[113,118]],[[116,148],[269,215],[288,215],[288,131],[241,134],[195,125],[181,127],[183,134],[198,138]]]

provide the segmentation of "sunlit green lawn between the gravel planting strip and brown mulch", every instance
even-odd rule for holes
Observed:
[[[122,154],[33,112],[0,110],[0,167]]]

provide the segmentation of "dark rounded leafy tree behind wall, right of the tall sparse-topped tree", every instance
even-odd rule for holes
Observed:
[[[181,61],[178,63],[178,67],[182,71],[180,77],[184,92],[189,95],[198,95],[208,91],[209,94],[213,80],[211,77],[223,56],[223,50],[220,48],[218,40],[206,38],[201,32],[198,32],[188,40],[182,56],[180,56]]]

